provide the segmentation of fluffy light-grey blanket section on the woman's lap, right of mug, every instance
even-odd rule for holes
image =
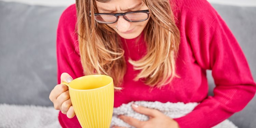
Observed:
[[[134,127],[130,126],[129,124],[125,123],[122,119],[117,118],[117,116],[120,114],[124,114],[126,116],[131,116],[133,118],[136,118],[136,119],[139,119],[142,121],[148,120],[148,117],[146,115],[143,115],[143,114],[133,111],[133,109],[131,108],[132,103],[133,102],[130,102],[128,104],[122,104],[118,108],[114,108],[111,126],[116,125],[116,126],[122,126],[122,127],[127,127],[127,128],[134,128]],[[147,108],[158,109],[163,114],[165,114],[171,118],[182,117],[182,116],[188,114],[189,112],[191,112],[198,105],[198,103],[196,103],[196,102],[184,104],[183,102],[161,103],[158,101],[155,101],[155,102],[135,101],[134,103],[144,106],[144,107],[147,107]],[[223,122],[219,123],[218,125],[216,125],[212,128],[238,128],[238,127],[236,125],[234,125],[230,120],[226,119]]]

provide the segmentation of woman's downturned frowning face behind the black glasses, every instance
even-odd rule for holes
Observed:
[[[99,13],[124,13],[148,9],[142,0],[110,0],[106,3],[96,1],[96,5]],[[107,25],[121,37],[133,39],[140,35],[148,20],[149,18],[142,22],[129,22],[123,16],[119,16],[117,22]]]

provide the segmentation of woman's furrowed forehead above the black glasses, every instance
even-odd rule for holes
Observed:
[[[142,0],[110,0],[109,2],[99,2],[96,0],[97,7],[108,10],[125,10],[141,3]]]

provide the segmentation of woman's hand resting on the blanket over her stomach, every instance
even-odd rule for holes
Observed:
[[[124,115],[119,115],[118,118],[136,128],[180,128],[179,124],[175,120],[156,109],[149,109],[135,104],[132,104],[132,109],[138,113],[147,115],[150,119],[147,121],[140,121]],[[124,127],[113,126],[113,128]]]

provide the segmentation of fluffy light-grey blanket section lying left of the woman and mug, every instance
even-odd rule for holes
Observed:
[[[61,128],[53,107],[0,104],[0,128]]]

